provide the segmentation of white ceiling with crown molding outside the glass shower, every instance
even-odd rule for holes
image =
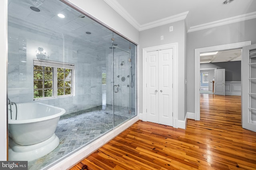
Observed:
[[[186,18],[188,32],[256,18],[256,0],[104,0],[136,29]]]

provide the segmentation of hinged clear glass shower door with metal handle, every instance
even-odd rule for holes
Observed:
[[[114,127],[130,119],[131,115],[131,59],[130,51],[113,45],[113,110]]]

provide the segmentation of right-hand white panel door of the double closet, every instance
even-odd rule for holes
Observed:
[[[172,126],[172,49],[159,51],[159,123]]]

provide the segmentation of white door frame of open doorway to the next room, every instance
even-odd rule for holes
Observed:
[[[195,49],[195,114],[194,117],[190,117],[191,119],[200,120],[200,53],[238,49],[247,45],[251,45],[251,41]]]

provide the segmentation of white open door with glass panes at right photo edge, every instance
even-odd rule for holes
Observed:
[[[256,44],[242,49],[242,127],[256,132]]]

